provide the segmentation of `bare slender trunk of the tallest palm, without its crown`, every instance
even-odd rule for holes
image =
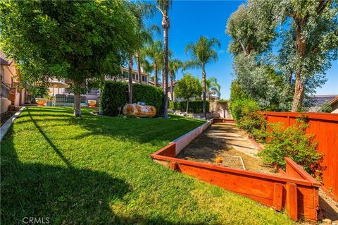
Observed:
[[[169,17],[168,11],[164,11],[162,18],[163,28],[163,45],[164,45],[164,65],[163,65],[163,92],[164,92],[164,108],[163,118],[168,118],[168,30],[169,30]]]

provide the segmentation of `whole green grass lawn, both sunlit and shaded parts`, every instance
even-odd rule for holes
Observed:
[[[292,224],[258,202],[153,162],[149,154],[203,123],[75,118],[30,107],[1,142],[1,221],[50,224]]]

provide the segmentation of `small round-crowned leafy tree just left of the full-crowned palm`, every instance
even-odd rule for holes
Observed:
[[[199,78],[194,77],[191,73],[184,73],[183,78],[178,81],[175,88],[175,96],[182,97],[187,101],[187,114],[189,109],[189,99],[201,96],[202,89]]]

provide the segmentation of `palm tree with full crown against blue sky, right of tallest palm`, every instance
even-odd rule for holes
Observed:
[[[203,78],[203,114],[206,117],[206,63],[217,61],[218,55],[214,47],[220,47],[220,41],[216,38],[208,39],[201,36],[195,44],[188,44],[185,53],[190,53],[192,59],[187,61],[186,68],[202,68]]]

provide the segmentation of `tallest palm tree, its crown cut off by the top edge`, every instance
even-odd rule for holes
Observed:
[[[156,0],[158,11],[162,14],[162,28],[163,28],[163,92],[164,92],[164,109],[163,109],[163,118],[168,118],[168,31],[170,28],[168,11],[171,6],[171,0]]]

